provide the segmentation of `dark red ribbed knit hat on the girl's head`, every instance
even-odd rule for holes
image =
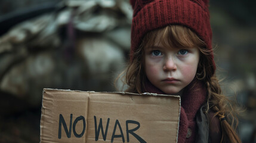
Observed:
[[[208,0],[130,0],[134,14],[131,28],[131,56],[144,35],[169,24],[193,30],[212,49]],[[215,70],[214,56],[211,54]]]

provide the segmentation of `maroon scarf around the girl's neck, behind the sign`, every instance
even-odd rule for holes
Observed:
[[[143,92],[165,94],[147,80]],[[183,91],[181,96],[180,126],[178,129],[178,143],[195,142],[196,139],[196,112],[206,100],[206,89],[202,82],[194,79]],[[192,135],[186,138],[188,128]]]

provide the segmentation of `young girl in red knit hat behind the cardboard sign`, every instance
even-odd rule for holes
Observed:
[[[180,95],[178,142],[241,142],[215,76],[208,1],[130,2],[134,14],[126,91]]]

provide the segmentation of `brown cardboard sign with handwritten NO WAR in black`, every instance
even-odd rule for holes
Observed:
[[[177,142],[180,97],[44,89],[41,142]]]

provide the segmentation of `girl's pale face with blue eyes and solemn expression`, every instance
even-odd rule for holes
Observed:
[[[166,47],[159,43],[146,47],[144,51],[149,81],[165,94],[181,95],[196,75],[199,49]]]

